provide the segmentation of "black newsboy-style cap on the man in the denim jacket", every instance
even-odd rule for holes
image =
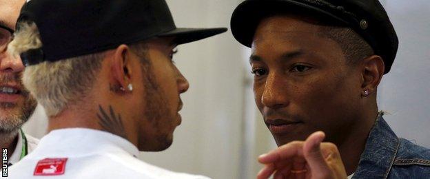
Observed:
[[[234,38],[251,47],[260,21],[276,12],[300,12],[351,28],[382,57],[385,74],[396,58],[398,37],[378,0],[246,0],[233,12]]]

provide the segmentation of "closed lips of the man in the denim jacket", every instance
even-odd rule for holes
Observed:
[[[303,124],[302,122],[285,120],[285,119],[268,119],[265,120],[267,127],[272,132],[272,134],[287,134],[294,129],[296,129],[299,125]]]

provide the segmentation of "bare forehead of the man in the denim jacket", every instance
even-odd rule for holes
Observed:
[[[289,52],[325,59],[343,57],[338,43],[323,36],[319,25],[294,16],[263,19],[254,34],[252,53],[263,59],[276,59]]]

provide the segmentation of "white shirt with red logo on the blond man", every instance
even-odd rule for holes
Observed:
[[[10,167],[10,178],[201,178],[175,173],[147,164],[136,156],[139,150],[128,140],[105,131],[84,128],[59,129],[41,138],[39,146]],[[37,163],[45,158],[67,158],[64,173],[34,176]]]

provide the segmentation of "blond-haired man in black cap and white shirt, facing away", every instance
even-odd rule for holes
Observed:
[[[136,158],[170,147],[189,84],[176,45],[225,28],[176,28],[165,1],[37,0],[23,6],[9,48],[48,130],[11,178],[204,178]]]

